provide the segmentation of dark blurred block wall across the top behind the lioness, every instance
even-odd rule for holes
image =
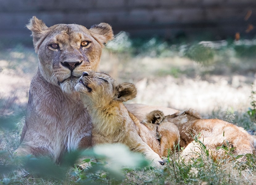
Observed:
[[[256,34],[256,29],[246,33],[249,24],[256,26],[255,0],[0,0],[0,37],[29,36],[25,25],[33,15],[47,26],[106,22],[115,34],[127,31],[131,36],[208,33],[225,39],[236,32]]]

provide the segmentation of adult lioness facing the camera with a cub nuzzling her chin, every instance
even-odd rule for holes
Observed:
[[[57,161],[65,151],[91,146],[90,117],[74,86],[82,72],[98,70],[102,48],[113,31],[106,23],[90,29],[77,24],[47,27],[35,16],[27,28],[39,64],[30,84],[21,144],[14,154],[47,155]],[[146,105],[128,109],[137,113],[137,107],[147,109]],[[169,114],[173,112],[170,109]]]

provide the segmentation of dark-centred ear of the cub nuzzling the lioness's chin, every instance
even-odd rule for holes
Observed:
[[[122,83],[115,87],[115,99],[119,101],[128,101],[136,97],[137,89],[134,84]]]

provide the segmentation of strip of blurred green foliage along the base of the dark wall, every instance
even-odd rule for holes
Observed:
[[[219,55],[224,49],[230,48],[235,51],[237,57],[255,57],[255,43],[255,40],[251,42],[237,42],[231,39],[225,41],[207,41],[207,44],[203,44],[200,41],[177,43],[160,37],[130,38],[129,33],[121,31],[115,35],[112,41],[106,44],[106,48],[112,52],[129,52],[135,56],[142,55],[150,57],[171,57],[181,51],[181,55],[187,56],[192,60],[207,62],[213,60],[214,55]]]

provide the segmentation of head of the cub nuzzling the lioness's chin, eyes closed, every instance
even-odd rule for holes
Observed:
[[[75,90],[80,92],[85,106],[98,107],[106,107],[113,102],[128,101],[137,94],[134,84],[117,84],[112,77],[100,72],[83,72]]]

